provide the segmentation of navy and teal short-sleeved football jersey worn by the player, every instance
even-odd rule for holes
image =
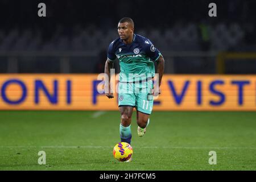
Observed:
[[[119,60],[119,81],[139,81],[154,77],[154,62],[161,53],[141,35],[134,34],[133,42],[125,44],[122,39],[115,39],[108,48],[108,59]]]

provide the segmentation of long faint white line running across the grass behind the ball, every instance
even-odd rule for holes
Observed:
[[[0,146],[0,148],[112,148],[112,146]],[[252,149],[256,147],[184,147],[184,146],[165,146],[165,147],[133,147],[133,148],[181,148],[181,149]]]

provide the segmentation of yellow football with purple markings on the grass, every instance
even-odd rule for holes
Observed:
[[[113,155],[115,159],[125,162],[131,158],[131,155],[133,155],[133,148],[126,142],[117,143],[114,146]]]

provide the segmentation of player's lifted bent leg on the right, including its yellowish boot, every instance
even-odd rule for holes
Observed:
[[[146,127],[149,123],[149,114],[141,113],[140,111],[137,111],[137,124],[138,124],[138,135],[139,137],[143,137],[143,135],[146,133]]]

